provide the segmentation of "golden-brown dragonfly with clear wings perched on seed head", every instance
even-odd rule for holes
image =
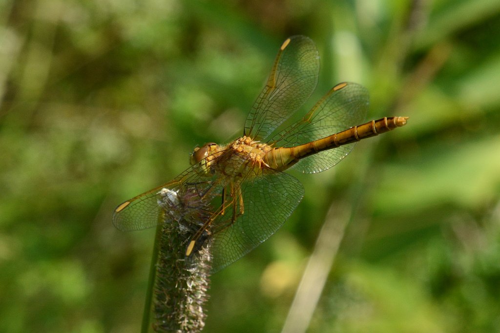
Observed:
[[[186,258],[209,247],[211,272],[239,259],[272,235],[304,195],[300,181],[283,172],[326,170],[364,138],[406,124],[407,117],[363,122],[369,96],[363,86],[331,88],[299,121],[284,124],[314,91],[319,54],[302,35],[279,47],[243,135],[227,144],[205,143],[191,166],[173,180],[119,204],[114,225],[124,231],[177,223]],[[356,125],[359,124],[359,125]],[[159,214],[164,218],[158,222]]]

